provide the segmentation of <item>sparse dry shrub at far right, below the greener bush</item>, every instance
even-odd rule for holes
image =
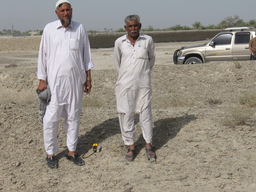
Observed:
[[[254,114],[254,111],[249,108],[236,108],[230,114],[231,116],[222,119],[222,123],[230,128],[235,128],[236,125],[245,124],[245,121]]]

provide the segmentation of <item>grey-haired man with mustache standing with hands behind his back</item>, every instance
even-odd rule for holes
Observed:
[[[146,141],[147,158],[155,158],[151,116],[151,75],[155,64],[155,46],[152,37],[140,34],[140,17],[125,18],[127,34],[115,42],[114,63],[119,73],[115,85],[116,105],[124,144],[129,146],[125,155],[133,161],[135,153],[134,112],[140,113],[140,127]]]

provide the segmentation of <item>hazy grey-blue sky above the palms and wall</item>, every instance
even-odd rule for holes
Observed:
[[[0,0],[0,31],[42,30],[57,20],[57,0]],[[191,26],[200,21],[204,26],[218,24],[228,16],[238,15],[249,21],[256,19],[255,0],[69,0],[73,20],[86,30],[116,30],[124,27],[127,15],[138,14],[142,28],[169,28],[173,25]]]

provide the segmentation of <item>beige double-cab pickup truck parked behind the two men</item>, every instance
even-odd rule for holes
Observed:
[[[181,47],[174,52],[174,64],[251,60],[249,41],[255,37],[256,28],[224,28],[208,43]]]

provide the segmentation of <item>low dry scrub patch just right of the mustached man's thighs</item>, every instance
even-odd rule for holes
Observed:
[[[194,104],[181,97],[167,97],[163,99],[160,107],[192,107]]]

